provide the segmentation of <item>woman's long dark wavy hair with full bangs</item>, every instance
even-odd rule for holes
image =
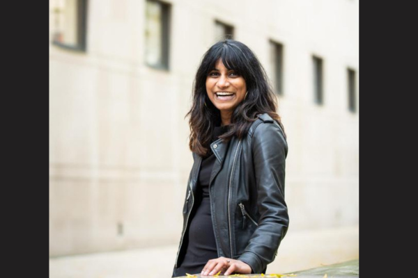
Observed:
[[[193,83],[193,104],[185,117],[190,116],[189,148],[200,156],[208,154],[208,147],[215,125],[221,122],[220,111],[212,104],[206,92],[206,77],[222,59],[228,70],[234,70],[245,79],[248,94],[238,104],[231,116],[229,131],[219,138],[231,140],[233,136],[243,138],[258,114],[268,113],[283,129],[277,110],[277,99],[269,79],[255,54],[242,42],[222,40],[206,51],[196,72]],[[283,129],[284,130],[284,129]]]

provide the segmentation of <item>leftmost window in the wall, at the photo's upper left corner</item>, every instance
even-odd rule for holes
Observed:
[[[52,43],[86,51],[86,0],[52,0]]]

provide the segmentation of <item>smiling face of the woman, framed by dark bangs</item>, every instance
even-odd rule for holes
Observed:
[[[247,85],[242,76],[228,70],[222,59],[219,59],[215,69],[206,77],[206,92],[212,104],[221,111],[221,115],[231,117],[238,104],[244,100]]]

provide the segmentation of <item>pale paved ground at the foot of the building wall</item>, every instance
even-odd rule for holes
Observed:
[[[279,247],[277,258],[268,265],[267,273],[291,273],[357,259],[358,244],[358,227],[298,232],[289,230]],[[176,244],[121,252],[50,258],[49,277],[170,278],[177,248]],[[298,275],[299,278],[307,278],[307,276],[300,275]],[[305,273],[305,275],[314,274]],[[330,278],[330,275],[328,277]]]

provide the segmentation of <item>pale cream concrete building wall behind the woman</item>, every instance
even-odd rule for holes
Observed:
[[[145,1],[88,1],[86,52],[49,44],[49,255],[179,242],[192,166],[184,116],[215,19],[268,72],[268,41],[284,44],[288,233],[356,226],[359,113],[348,111],[346,68],[358,111],[358,0],[166,2],[168,72],[144,63]],[[324,59],[323,106],[312,55]]]

